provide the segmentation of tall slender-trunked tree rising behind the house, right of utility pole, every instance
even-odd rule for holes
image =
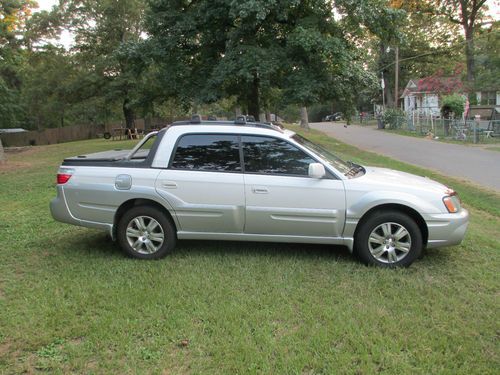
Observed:
[[[486,0],[437,0],[441,13],[447,15],[451,22],[460,25],[465,35],[465,60],[467,81],[472,84],[475,79],[474,36],[478,24],[482,21]]]

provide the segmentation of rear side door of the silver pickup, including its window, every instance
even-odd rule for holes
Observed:
[[[245,192],[239,137],[230,134],[184,134],[156,180],[180,231],[242,233]]]

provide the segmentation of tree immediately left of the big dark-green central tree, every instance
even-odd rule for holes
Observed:
[[[134,127],[142,64],[144,0],[68,0],[60,12],[75,34],[75,60],[85,67],[86,99],[120,102]]]

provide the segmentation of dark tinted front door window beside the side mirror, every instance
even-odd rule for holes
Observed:
[[[245,172],[307,176],[316,161],[290,143],[270,137],[241,138]]]

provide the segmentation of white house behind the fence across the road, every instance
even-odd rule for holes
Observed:
[[[465,88],[458,77],[426,77],[410,79],[401,99],[405,112],[422,115],[441,115],[441,98],[453,93],[464,94]],[[500,107],[500,91],[476,92],[477,102],[489,106]]]

